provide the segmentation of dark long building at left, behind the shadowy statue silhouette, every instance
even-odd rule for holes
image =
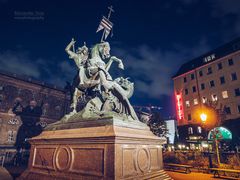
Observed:
[[[63,89],[29,77],[0,72],[0,148],[14,147],[20,116],[13,113],[16,102],[27,107],[31,100],[41,106],[40,125],[58,121],[68,110],[70,97]]]

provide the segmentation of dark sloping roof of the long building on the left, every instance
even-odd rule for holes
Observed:
[[[48,83],[45,83],[43,81],[36,80],[36,79],[34,79],[34,78],[30,77],[30,76],[19,75],[19,74],[10,73],[10,72],[6,72],[6,71],[2,71],[2,70],[0,71],[0,75],[8,76],[10,78],[22,80],[22,81],[25,81],[25,82],[28,82],[28,83],[32,83],[32,84],[44,86],[44,87],[47,87],[47,88],[51,88],[51,89],[54,89],[54,90],[57,90],[57,91],[65,92],[65,90],[63,88],[61,88],[61,87],[57,87],[55,85],[48,84]]]

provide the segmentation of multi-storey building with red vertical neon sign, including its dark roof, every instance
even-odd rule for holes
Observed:
[[[240,38],[183,64],[173,77],[178,125],[199,124],[208,101],[240,117]]]

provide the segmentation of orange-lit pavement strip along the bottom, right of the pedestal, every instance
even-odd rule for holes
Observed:
[[[227,178],[227,177],[222,177],[222,178],[214,178],[213,174],[204,174],[204,173],[195,173],[191,172],[189,174],[181,173],[181,172],[172,172],[172,171],[166,171],[167,174],[173,178],[174,180],[223,180],[223,179],[231,179],[231,180],[236,180],[240,178]]]

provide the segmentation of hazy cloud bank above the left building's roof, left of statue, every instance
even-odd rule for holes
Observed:
[[[28,51],[0,51],[0,70],[30,76],[59,87],[64,87],[76,73],[74,63],[32,58]]]

